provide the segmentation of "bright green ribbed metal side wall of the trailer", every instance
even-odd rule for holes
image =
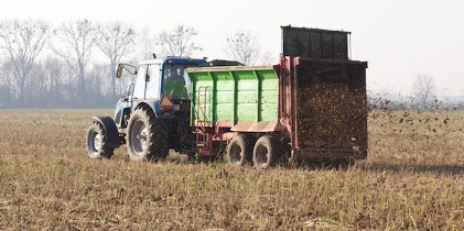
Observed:
[[[273,67],[202,67],[187,73],[193,86],[192,125],[197,119],[211,125],[278,121],[279,78]]]

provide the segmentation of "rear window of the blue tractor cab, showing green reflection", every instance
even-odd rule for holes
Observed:
[[[192,81],[184,66],[165,64],[163,78],[163,94],[169,95],[173,99],[190,98]]]

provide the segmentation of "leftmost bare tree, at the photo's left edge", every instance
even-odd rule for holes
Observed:
[[[40,20],[0,21],[0,48],[7,54],[4,67],[13,75],[20,103],[25,103],[25,87],[34,62],[51,36],[48,23]]]

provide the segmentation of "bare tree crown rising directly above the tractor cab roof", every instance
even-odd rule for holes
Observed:
[[[154,37],[154,42],[161,47],[161,52],[170,56],[190,56],[196,51],[202,51],[202,47],[197,46],[193,42],[193,37],[197,35],[195,29],[177,25],[173,31],[163,31]]]

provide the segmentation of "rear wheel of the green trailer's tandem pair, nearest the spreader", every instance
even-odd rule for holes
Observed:
[[[281,157],[278,145],[278,142],[272,141],[272,136],[270,135],[259,138],[252,153],[255,167],[268,168],[276,165]]]

